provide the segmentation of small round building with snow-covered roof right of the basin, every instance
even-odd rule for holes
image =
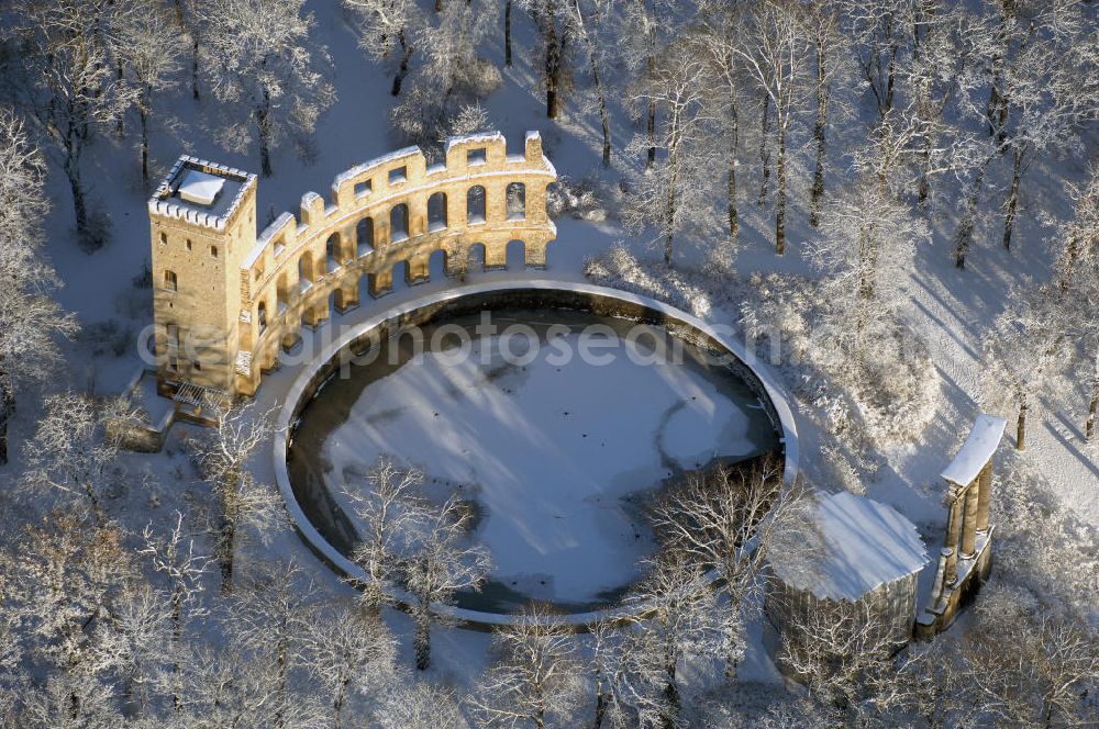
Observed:
[[[876,501],[843,492],[809,507],[811,528],[773,546],[764,608],[780,637],[824,615],[880,620],[903,644],[912,637],[919,574],[928,551],[915,526]],[[846,605],[845,605],[846,604]],[[856,606],[857,610],[842,608]],[[834,609],[819,609],[819,608]]]

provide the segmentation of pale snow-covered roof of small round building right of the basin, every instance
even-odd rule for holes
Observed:
[[[928,563],[915,526],[874,500],[847,492],[820,496],[810,519],[810,534],[781,540],[768,561],[787,585],[819,598],[855,602]]]

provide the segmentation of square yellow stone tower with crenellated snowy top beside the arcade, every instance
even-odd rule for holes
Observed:
[[[206,394],[235,390],[241,263],[256,243],[256,176],[180,157],[149,199],[148,215],[157,386],[198,407]]]

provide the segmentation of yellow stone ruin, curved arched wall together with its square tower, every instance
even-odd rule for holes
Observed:
[[[212,203],[181,195],[191,171],[218,178]],[[444,164],[409,147],[353,167],[330,201],[308,192],[298,217],[284,213],[257,236],[256,176],[180,157],[148,202],[160,391],[254,394],[303,325],[358,303],[363,277],[373,296],[392,289],[395,268],[426,281],[436,251],[454,276],[481,251],[486,269],[504,268],[520,240],[526,266],[543,268],[555,179],[537,133],[521,155],[500,134],[453,138]]]

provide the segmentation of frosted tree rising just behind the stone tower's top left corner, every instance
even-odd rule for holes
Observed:
[[[141,120],[141,175],[148,183],[148,127],[157,97],[182,68],[184,38],[163,0],[127,0],[113,29],[115,55],[129,70],[131,94]]]

